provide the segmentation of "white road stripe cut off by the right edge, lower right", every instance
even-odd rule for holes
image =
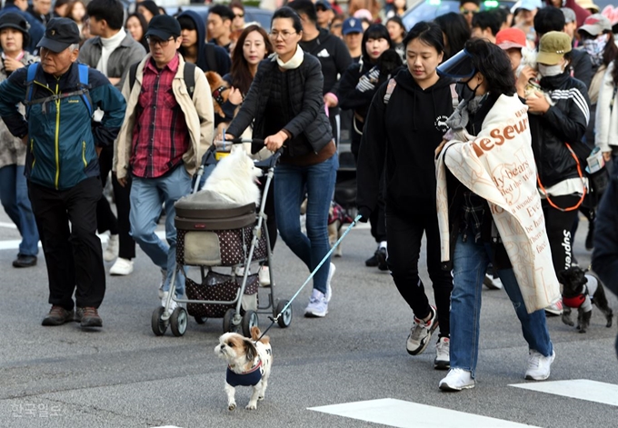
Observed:
[[[553,393],[563,397],[577,398],[593,403],[603,403],[618,406],[618,385],[590,381],[588,379],[573,379],[571,381],[549,381],[539,383],[514,383],[509,386]]]

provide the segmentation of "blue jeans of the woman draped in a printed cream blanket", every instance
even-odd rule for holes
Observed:
[[[476,370],[479,353],[479,317],[483,278],[490,263],[491,246],[474,243],[474,234],[463,242],[457,238],[453,259],[454,288],[451,294],[451,368],[472,372]],[[523,338],[533,349],[544,356],[553,353],[543,309],[528,314],[513,269],[498,270],[515,313],[522,323]]]

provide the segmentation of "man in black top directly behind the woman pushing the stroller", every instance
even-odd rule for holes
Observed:
[[[310,0],[295,0],[289,4],[301,17],[303,22],[303,38],[300,46],[304,52],[317,56],[322,65],[324,75],[324,105],[328,107],[328,117],[333,128],[333,137],[339,143],[339,78],[345,69],[352,64],[352,57],[344,42],[328,30],[317,26],[317,12]]]

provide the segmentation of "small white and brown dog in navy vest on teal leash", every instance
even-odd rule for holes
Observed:
[[[245,409],[255,410],[257,401],[264,400],[268,377],[273,364],[273,352],[268,336],[260,338],[260,329],[251,329],[251,339],[238,333],[224,333],[219,337],[219,344],[214,347],[214,354],[227,362],[225,375],[225,393],[227,408],[234,410],[236,386],[252,386],[253,393]],[[259,340],[258,340],[259,339]]]

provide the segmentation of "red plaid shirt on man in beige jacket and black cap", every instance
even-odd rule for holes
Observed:
[[[133,130],[131,168],[136,177],[156,178],[183,162],[189,148],[184,113],[172,90],[178,71],[178,55],[162,69],[151,58],[144,67]]]

